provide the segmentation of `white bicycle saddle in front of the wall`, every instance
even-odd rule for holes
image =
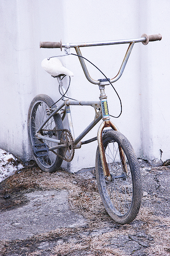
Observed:
[[[47,71],[52,76],[58,76],[62,74],[74,76],[73,72],[71,72],[66,67],[63,67],[63,64],[57,58],[50,58],[50,60],[44,59],[41,62],[41,67],[43,67],[44,70]]]

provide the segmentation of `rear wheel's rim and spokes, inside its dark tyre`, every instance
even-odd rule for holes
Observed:
[[[36,130],[48,117],[47,111],[46,111],[48,108],[49,108],[48,105],[43,101],[36,102],[32,108],[30,130],[31,130],[31,142],[33,146],[45,143],[47,147],[50,148],[56,145],[56,143],[54,142],[46,141],[42,139],[39,140],[38,138],[35,137]],[[45,137],[50,137],[53,139],[58,139],[57,133],[55,132],[55,130],[56,130],[56,124],[55,124],[54,118],[51,117],[50,120],[44,125],[41,131],[41,135],[44,135]],[[38,157],[37,161],[40,162],[40,164],[44,168],[51,168],[54,165],[56,158],[57,158],[57,149],[53,151],[49,151],[48,156]]]

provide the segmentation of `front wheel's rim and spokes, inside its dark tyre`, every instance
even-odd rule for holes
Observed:
[[[117,216],[127,216],[132,208],[133,202],[133,182],[131,169],[127,157],[123,152],[124,164],[120,157],[119,144],[116,141],[104,144],[105,156],[111,181],[107,181],[103,174],[100,160],[100,173],[103,195],[112,212]],[[125,172],[126,167],[126,172]]]

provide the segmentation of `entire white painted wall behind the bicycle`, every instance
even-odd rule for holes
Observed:
[[[156,4],[157,2],[157,4]],[[86,42],[138,38],[141,34],[162,34],[163,39],[147,46],[135,44],[125,71],[114,86],[123,113],[111,120],[126,135],[138,157],[148,160],[170,158],[169,119],[169,11],[168,0],[1,0],[0,22],[0,148],[31,158],[27,136],[27,113],[35,95],[59,98],[57,80],[42,68],[41,61],[60,54],[59,49],[40,49],[39,41]],[[113,78],[128,45],[81,48],[83,56]],[[76,53],[74,49],[72,53]],[[98,100],[98,86],[90,84],[76,56],[61,57],[75,76],[70,97]],[[87,63],[94,79],[101,74]],[[106,88],[109,113],[119,115],[120,103],[113,89]],[[72,107],[75,135],[94,119],[91,107]],[[82,110],[82,111],[80,111]],[[90,112],[89,112],[90,111]],[[88,117],[89,115],[89,117]],[[77,122],[78,120],[78,122]],[[84,139],[96,136],[96,126]],[[95,165],[96,141],[76,150],[70,169]]]

